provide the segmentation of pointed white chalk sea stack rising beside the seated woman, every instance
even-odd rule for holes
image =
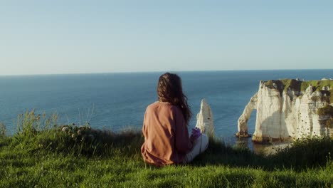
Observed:
[[[208,137],[214,136],[213,113],[206,100],[201,100],[200,112],[196,115],[196,127],[201,129]]]

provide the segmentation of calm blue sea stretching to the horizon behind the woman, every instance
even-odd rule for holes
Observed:
[[[216,135],[233,137],[237,120],[258,90],[260,80],[332,78],[333,70],[300,71],[204,71],[177,72],[196,124],[202,98],[213,110]],[[16,132],[16,117],[26,110],[58,113],[59,124],[122,130],[142,127],[144,111],[157,100],[157,80],[162,73],[103,73],[82,75],[0,76],[0,122],[9,134]],[[254,132],[255,113],[248,122]]]

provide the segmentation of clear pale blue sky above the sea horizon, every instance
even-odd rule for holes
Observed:
[[[333,1],[1,1],[0,75],[333,68]]]

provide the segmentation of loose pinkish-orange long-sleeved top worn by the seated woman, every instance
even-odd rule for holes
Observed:
[[[150,164],[181,163],[193,147],[181,110],[169,103],[157,102],[147,107],[142,132],[142,157]]]

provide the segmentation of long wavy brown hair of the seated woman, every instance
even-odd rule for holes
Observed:
[[[157,83],[157,95],[160,102],[170,103],[179,107],[184,115],[186,125],[189,125],[192,113],[187,103],[187,97],[183,93],[179,75],[173,73],[164,73],[161,75],[159,83]]]

